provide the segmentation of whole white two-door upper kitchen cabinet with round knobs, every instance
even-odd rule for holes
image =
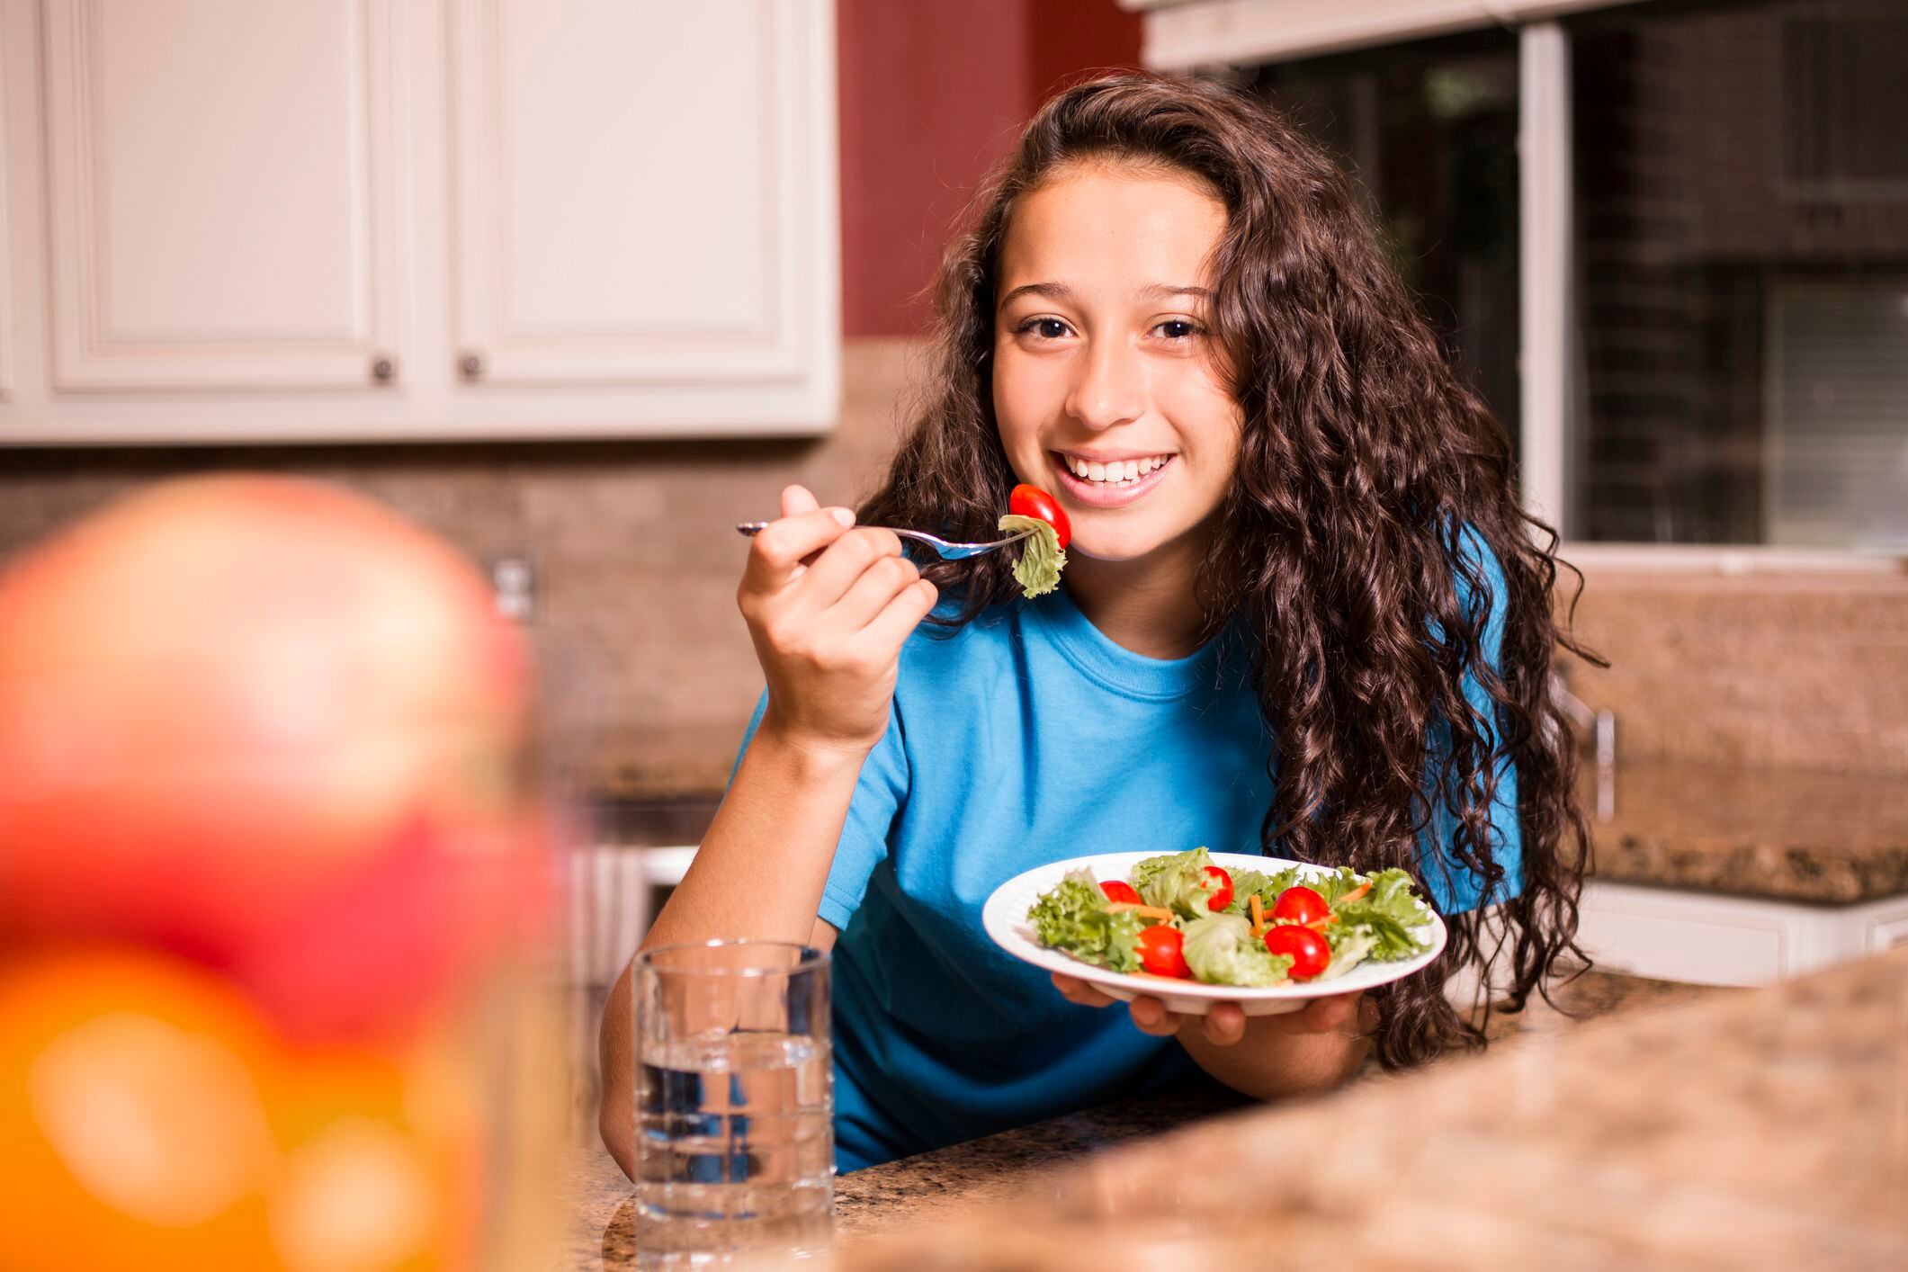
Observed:
[[[0,0],[0,444],[834,423],[830,0]]]

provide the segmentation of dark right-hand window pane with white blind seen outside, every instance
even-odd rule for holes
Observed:
[[[1572,534],[1908,547],[1908,6],[1568,32]]]

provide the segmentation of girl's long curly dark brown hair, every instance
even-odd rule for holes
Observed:
[[[1120,74],[1055,95],[975,195],[935,284],[933,372],[864,523],[988,538],[1017,481],[992,404],[994,284],[1015,200],[1074,162],[1202,179],[1225,204],[1212,326],[1244,418],[1236,481],[1213,513],[1194,595],[1204,637],[1257,635],[1254,687],[1278,740],[1265,852],[1423,873],[1418,837],[1441,801],[1444,851],[1483,883],[1450,915],[1446,955],[1378,992],[1385,1068],[1483,1045],[1483,1020],[1444,997],[1448,975],[1492,971],[1502,1007],[1545,994],[1574,946],[1589,828],[1574,799],[1576,742],[1551,698],[1557,532],[1519,507],[1504,425],[1448,366],[1387,263],[1351,181],[1275,109],[1198,80]],[[1469,532],[1465,530],[1469,526]],[[1469,534],[1496,555],[1507,597],[1498,667],[1488,587]],[[1017,585],[998,555],[927,564],[965,624]],[[1496,723],[1465,698],[1465,679]],[[1433,746],[1435,738],[1435,746]],[[1505,898],[1490,805],[1517,772],[1523,889]],[[1427,780],[1427,770],[1431,780]],[[1498,904],[1502,927],[1481,915]],[[1502,984],[1507,978],[1507,984]],[[1488,995],[1486,995],[1488,999]],[[1488,1013],[1488,1003],[1486,1003]]]

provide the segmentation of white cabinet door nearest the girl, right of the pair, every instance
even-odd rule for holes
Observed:
[[[454,359],[630,431],[832,423],[826,0],[452,0]],[[698,406],[696,399],[702,399]]]

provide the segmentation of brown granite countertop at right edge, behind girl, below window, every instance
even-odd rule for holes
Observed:
[[[1586,774],[1586,807],[1595,776]],[[1618,767],[1616,814],[1591,816],[1595,877],[1851,904],[1908,892],[1900,778],[1645,763]]]

